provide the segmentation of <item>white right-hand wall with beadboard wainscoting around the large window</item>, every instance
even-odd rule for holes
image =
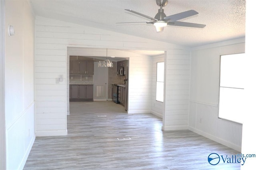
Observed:
[[[243,53],[244,38],[197,47],[191,57],[189,129],[241,151],[242,125],[218,118],[220,55]]]

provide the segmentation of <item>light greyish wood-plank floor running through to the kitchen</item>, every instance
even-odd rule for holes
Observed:
[[[231,156],[236,150],[189,130],[162,131],[162,119],[127,114],[111,101],[70,102],[67,123],[67,136],[36,137],[24,170],[240,169],[207,161],[212,152]]]

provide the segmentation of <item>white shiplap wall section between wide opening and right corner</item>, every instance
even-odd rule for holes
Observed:
[[[166,89],[163,130],[188,128],[188,98],[190,90],[190,52],[168,51],[165,59]]]

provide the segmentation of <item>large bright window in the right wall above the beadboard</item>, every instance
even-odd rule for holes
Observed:
[[[244,100],[244,53],[220,56],[219,117],[241,123]]]

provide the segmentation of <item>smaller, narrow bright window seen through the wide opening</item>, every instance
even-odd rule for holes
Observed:
[[[156,101],[164,102],[164,62],[157,63]]]

